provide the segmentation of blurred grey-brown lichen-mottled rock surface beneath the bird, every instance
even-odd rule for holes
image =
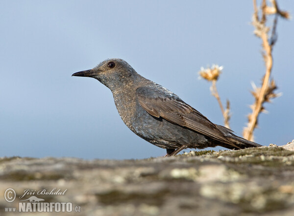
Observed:
[[[293,145],[286,147],[291,150]],[[5,208],[19,211],[19,203],[29,202],[21,200],[34,195],[44,199],[40,203],[70,202],[74,211],[80,210],[58,215],[293,216],[294,151],[290,150],[271,145],[124,161],[0,158],[0,215],[22,215],[5,213]],[[8,188],[16,191],[13,202],[3,198]],[[54,188],[53,192],[66,191],[37,194]],[[19,198],[27,189],[35,193]]]

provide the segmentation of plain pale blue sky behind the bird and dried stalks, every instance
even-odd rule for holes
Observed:
[[[279,6],[293,12],[294,1]],[[0,157],[132,159],[165,150],[133,134],[108,88],[71,77],[106,58],[126,60],[142,76],[222,123],[201,66],[223,65],[221,100],[231,102],[231,128],[242,135],[265,67],[250,25],[251,1],[0,1]],[[294,139],[294,25],[278,21],[272,77],[282,92],[266,104],[255,141]],[[291,39],[292,38],[292,39]]]

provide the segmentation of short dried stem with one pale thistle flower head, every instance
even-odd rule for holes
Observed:
[[[211,81],[212,85],[210,87],[210,91],[212,93],[212,95],[217,99],[220,108],[221,108],[221,113],[223,116],[223,121],[224,121],[224,126],[227,128],[230,128],[229,125],[229,120],[231,118],[230,115],[230,102],[229,100],[227,100],[226,102],[226,109],[223,108],[222,104],[221,104],[221,98],[217,89],[217,80],[219,79],[219,76],[221,74],[221,70],[223,69],[222,66],[219,65],[212,65],[211,68],[206,68],[204,69],[203,67],[201,67],[200,71],[199,71],[199,75],[200,78],[203,78],[207,81]]]

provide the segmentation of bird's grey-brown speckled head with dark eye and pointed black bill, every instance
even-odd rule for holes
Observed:
[[[102,61],[93,69],[80,71],[72,76],[95,78],[113,91],[133,83],[138,74],[123,59],[111,58]]]

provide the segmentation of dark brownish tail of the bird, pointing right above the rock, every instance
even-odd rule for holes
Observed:
[[[216,125],[217,128],[226,136],[226,138],[234,145],[237,146],[239,149],[244,149],[244,148],[250,148],[250,147],[261,147],[262,145],[257,144],[255,142],[251,142],[245,138],[242,138],[240,136],[234,135],[233,131],[225,128],[221,125]],[[226,148],[230,148],[230,149],[236,149],[234,146],[231,147],[227,147],[227,144],[225,144]]]

